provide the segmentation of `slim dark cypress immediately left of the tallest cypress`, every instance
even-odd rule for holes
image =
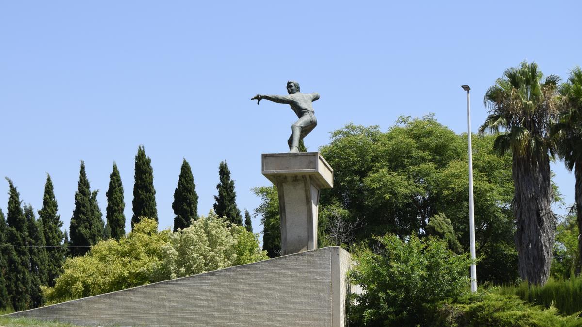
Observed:
[[[109,189],[107,193],[107,226],[109,236],[119,240],[125,235],[125,202],[123,202],[123,185],[117,164],[113,162],[113,171],[109,175]]]

